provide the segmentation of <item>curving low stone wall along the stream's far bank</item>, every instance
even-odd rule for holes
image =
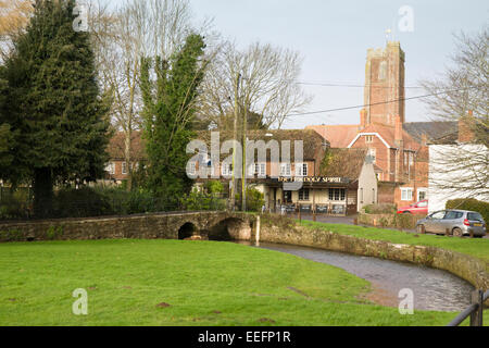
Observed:
[[[485,290],[489,288],[489,265],[481,260],[455,251],[339,235],[299,226],[292,220],[283,220],[274,215],[264,215],[261,221],[261,241],[305,246],[422,264],[448,271],[473,284],[476,288]]]

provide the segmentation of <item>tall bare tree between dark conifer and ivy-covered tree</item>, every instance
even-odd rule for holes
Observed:
[[[113,96],[113,125],[124,133],[130,190],[131,139],[141,126],[141,59],[167,59],[183,45],[190,32],[190,7],[188,0],[127,0],[111,13],[106,5],[91,13],[101,84]]]

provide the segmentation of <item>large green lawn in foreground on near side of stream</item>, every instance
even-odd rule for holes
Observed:
[[[77,288],[88,290],[87,316],[72,313]],[[227,243],[0,245],[0,325],[446,325],[456,315],[403,316],[362,300],[368,290],[340,269]]]

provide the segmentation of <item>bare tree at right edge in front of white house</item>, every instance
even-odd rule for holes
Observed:
[[[448,194],[489,199],[489,29],[455,39],[453,65],[440,78],[422,82],[434,95],[426,103],[438,121],[462,125],[461,141],[431,149],[430,182]]]

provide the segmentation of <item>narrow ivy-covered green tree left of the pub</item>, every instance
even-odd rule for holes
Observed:
[[[204,48],[203,38],[192,34],[170,62],[160,58],[142,59],[147,186],[168,199],[180,197],[191,187],[186,174],[189,159],[186,147],[195,136],[195,101],[203,78],[205,63],[200,58]]]

